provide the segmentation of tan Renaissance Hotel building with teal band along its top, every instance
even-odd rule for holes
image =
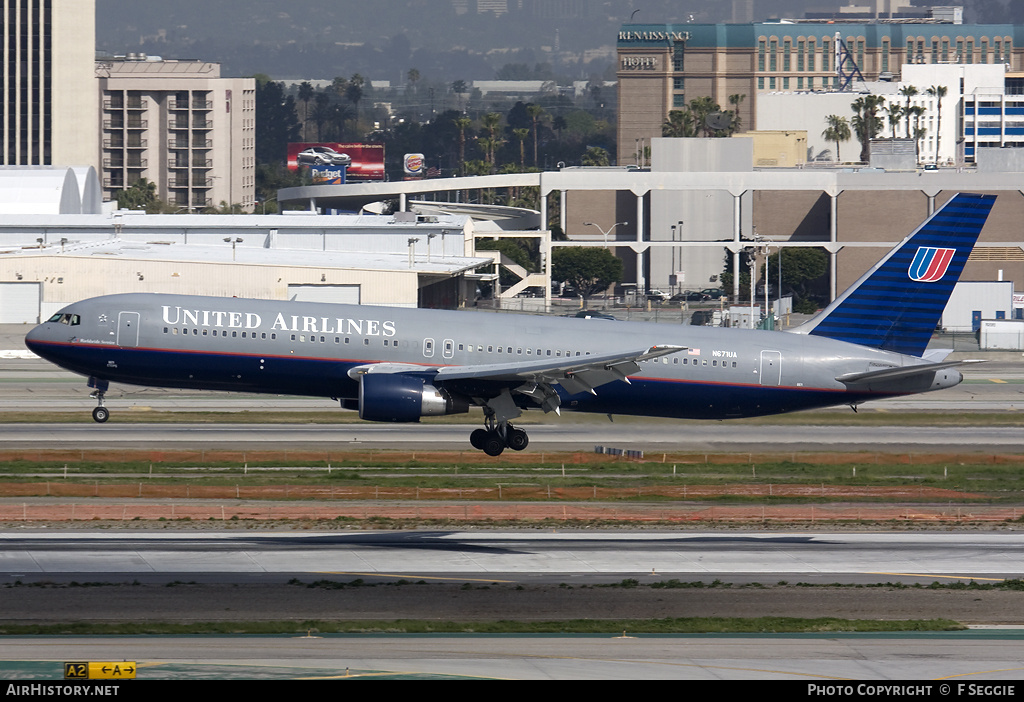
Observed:
[[[768,93],[898,81],[903,64],[1021,71],[1021,30],[937,20],[624,25],[617,38],[618,163],[633,163],[637,144],[660,136],[669,112],[694,98],[737,109],[743,128],[762,129],[758,108]]]

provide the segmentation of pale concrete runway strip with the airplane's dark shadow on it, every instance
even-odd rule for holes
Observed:
[[[776,582],[1021,577],[1016,532],[0,532],[11,582],[285,582],[325,575],[595,584],[623,578]]]

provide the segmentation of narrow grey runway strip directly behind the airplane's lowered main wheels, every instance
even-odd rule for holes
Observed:
[[[592,451],[594,446],[658,451],[1021,452],[1019,427],[783,426],[627,421],[521,425],[527,452]],[[0,446],[46,449],[465,450],[476,425],[8,424]]]

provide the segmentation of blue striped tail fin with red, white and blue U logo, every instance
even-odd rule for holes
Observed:
[[[995,195],[958,193],[795,332],[921,356]]]

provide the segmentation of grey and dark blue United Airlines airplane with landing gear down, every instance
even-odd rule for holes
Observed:
[[[74,303],[37,355],[110,383],[330,397],[362,420],[483,409],[470,443],[522,450],[524,410],[724,420],[952,387],[929,352],[994,195],[958,193],[820,314],[786,332],[166,294]]]

